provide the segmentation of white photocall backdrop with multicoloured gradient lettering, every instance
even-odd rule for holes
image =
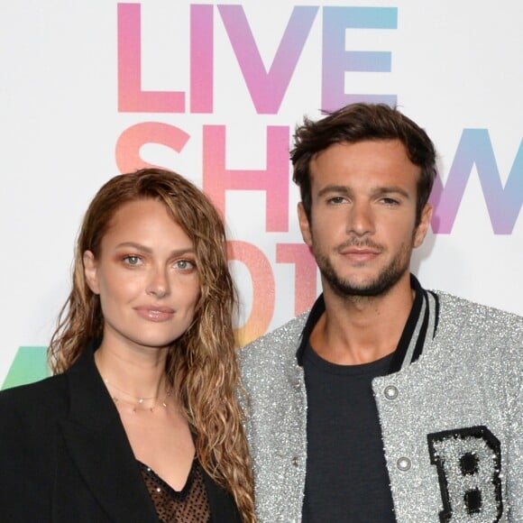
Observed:
[[[398,105],[439,151],[423,284],[523,314],[523,67],[513,0],[0,6],[0,386],[47,373],[73,244],[118,172],[177,170],[229,231],[238,344],[319,292],[289,143],[304,115]]]

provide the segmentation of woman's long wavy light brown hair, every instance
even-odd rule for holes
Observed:
[[[83,254],[99,256],[116,211],[126,203],[153,198],[194,244],[200,296],[194,321],[175,340],[166,376],[184,406],[195,434],[197,457],[216,482],[232,492],[246,522],[254,521],[251,461],[236,401],[239,371],[234,354],[234,284],[227,266],[225,227],[209,199],[179,174],[143,169],[116,176],[100,188],[78,234],[72,290],[50,341],[54,373],[66,371],[87,342],[103,335],[99,297],[87,286]]]

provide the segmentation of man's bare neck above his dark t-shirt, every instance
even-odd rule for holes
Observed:
[[[409,279],[377,297],[339,297],[324,287],[325,313],[309,338],[328,362],[355,365],[393,353],[414,301]]]

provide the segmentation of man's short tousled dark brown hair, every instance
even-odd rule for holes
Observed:
[[[296,128],[290,160],[292,179],[299,187],[301,201],[310,222],[310,161],[334,143],[355,143],[365,140],[399,140],[408,159],[421,169],[417,180],[416,224],[427,204],[436,178],[436,151],[427,133],[398,109],[385,104],[351,104],[314,122],[305,117]]]

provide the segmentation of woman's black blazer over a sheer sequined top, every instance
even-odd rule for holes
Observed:
[[[0,521],[158,523],[87,347],[69,371],[0,392]],[[212,521],[240,522],[204,472]]]

